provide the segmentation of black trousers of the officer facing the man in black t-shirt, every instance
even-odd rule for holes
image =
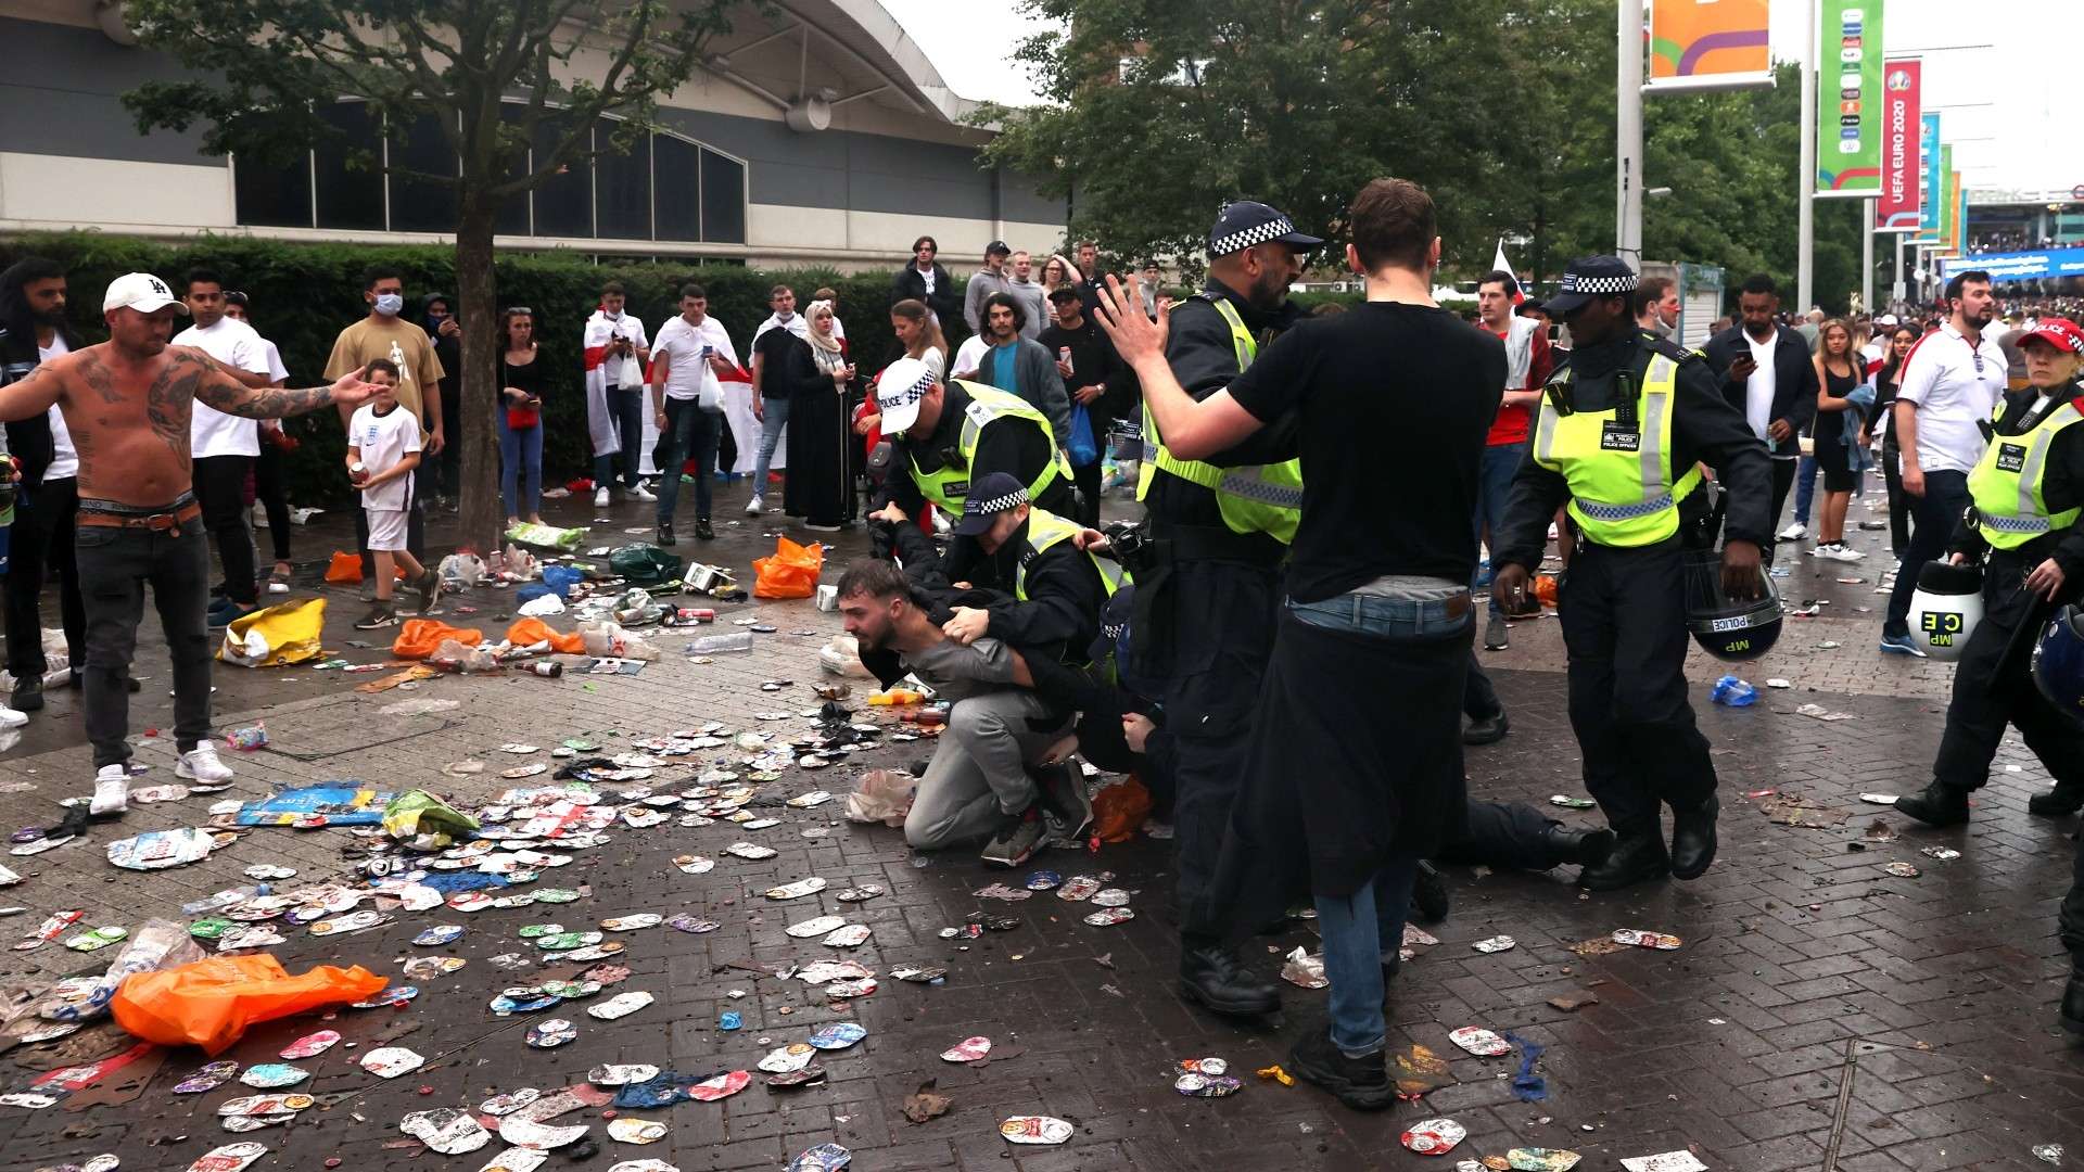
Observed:
[[[1246,770],[1259,682],[1273,655],[1280,571],[1234,561],[1180,561],[1165,594],[1159,609],[1167,621],[1157,626],[1171,649],[1163,699],[1173,744],[1182,928],[1190,936],[1217,936],[1227,915],[1207,907],[1207,893]]]

